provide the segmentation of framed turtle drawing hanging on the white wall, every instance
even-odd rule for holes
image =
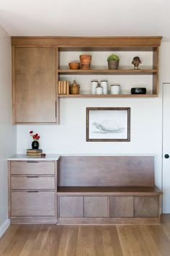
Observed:
[[[86,108],[86,141],[130,141],[130,108]]]

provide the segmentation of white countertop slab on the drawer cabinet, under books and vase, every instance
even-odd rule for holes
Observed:
[[[56,155],[56,154],[47,154],[45,158],[42,158],[41,156],[32,156],[32,155],[13,155],[12,157],[8,158],[9,161],[14,161],[14,160],[39,160],[39,161],[45,161],[45,160],[58,160],[61,155]]]

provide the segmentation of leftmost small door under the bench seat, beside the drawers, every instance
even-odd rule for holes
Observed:
[[[59,197],[59,216],[83,217],[83,197]]]

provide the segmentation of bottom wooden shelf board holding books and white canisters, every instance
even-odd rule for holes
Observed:
[[[157,94],[59,94],[58,98],[156,98]]]

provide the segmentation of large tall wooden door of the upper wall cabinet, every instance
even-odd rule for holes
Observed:
[[[54,123],[55,47],[15,47],[13,57],[13,122]]]

